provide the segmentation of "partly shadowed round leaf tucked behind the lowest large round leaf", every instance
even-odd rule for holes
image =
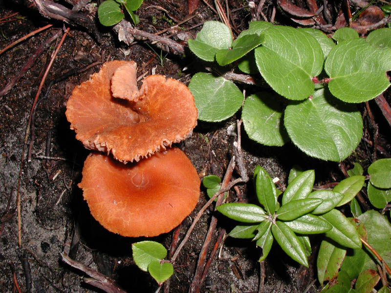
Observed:
[[[241,116],[247,135],[262,145],[283,146],[289,137],[282,113],[282,99],[275,93],[259,92],[247,97]]]

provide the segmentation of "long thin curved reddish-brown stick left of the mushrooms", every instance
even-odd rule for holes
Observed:
[[[18,186],[17,186],[17,190],[16,190],[16,198],[17,198],[17,209],[18,209],[18,244],[19,244],[19,247],[22,247],[22,217],[21,217],[21,196],[20,196],[20,193],[19,193],[19,190],[20,190],[20,187],[21,187],[21,179],[22,179],[22,168],[23,168],[23,159],[24,159],[24,153],[25,153],[25,150],[26,150],[26,144],[27,144],[27,140],[28,140],[28,134],[29,134],[29,129],[30,129],[30,126],[31,126],[31,119],[32,119],[32,114],[33,114],[33,110],[34,110],[34,107],[35,105],[37,104],[37,101],[38,101],[38,97],[41,93],[41,90],[42,90],[42,87],[43,87],[43,84],[46,80],[46,76],[47,74],[49,73],[49,70],[54,62],[54,59],[56,58],[57,56],[57,53],[58,51],[60,50],[61,48],[61,45],[63,44],[64,40],[65,40],[65,37],[67,35],[67,33],[69,32],[69,28],[66,29],[60,43],[58,44],[56,50],[54,51],[53,53],[53,56],[46,68],[46,71],[45,73],[43,74],[43,78],[41,80],[41,84],[39,85],[38,87],[38,90],[37,90],[37,94],[34,98],[34,101],[33,101],[33,105],[31,106],[31,111],[30,111],[30,116],[28,118],[28,123],[27,123],[27,126],[26,126],[26,131],[25,131],[25,134],[24,134],[24,143],[23,143],[23,150],[22,150],[22,158],[21,158],[21,165],[20,165],[20,168],[19,168],[19,176],[18,176]]]

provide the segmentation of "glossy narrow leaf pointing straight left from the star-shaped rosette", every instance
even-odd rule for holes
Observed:
[[[228,203],[216,209],[224,216],[244,223],[257,223],[267,219],[265,211],[253,204]]]

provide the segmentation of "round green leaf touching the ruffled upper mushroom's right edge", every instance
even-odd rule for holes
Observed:
[[[198,119],[208,122],[225,120],[235,114],[243,94],[231,81],[211,73],[196,73],[189,84],[198,110]]]

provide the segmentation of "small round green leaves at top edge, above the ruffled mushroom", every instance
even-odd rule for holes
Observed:
[[[107,0],[102,2],[98,7],[98,18],[100,23],[105,26],[111,26],[122,21],[125,17],[122,7],[128,11],[134,24],[140,19],[134,14],[134,11],[140,8],[143,0]]]

